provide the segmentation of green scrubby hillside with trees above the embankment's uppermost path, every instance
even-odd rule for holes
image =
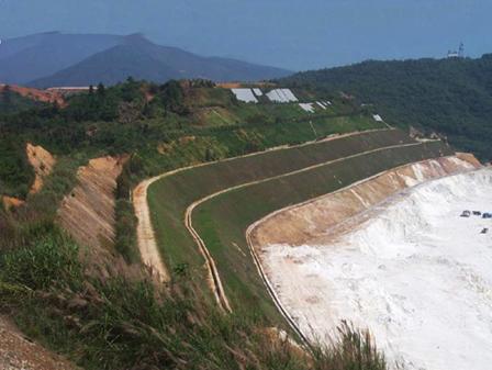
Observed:
[[[67,99],[63,109],[0,111],[2,193],[24,198],[33,180],[25,142],[57,156],[135,155],[142,167],[131,176],[135,183],[192,162],[381,126],[345,99],[309,114],[297,104],[241,103],[230,90],[203,80],[157,86],[128,79]]]

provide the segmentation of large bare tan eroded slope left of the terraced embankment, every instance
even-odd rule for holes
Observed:
[[[78,186],[58,210],[58,223],[80,244],[104,247],[113,244],[116,179],[125,158],[91,159],[77,172]]]

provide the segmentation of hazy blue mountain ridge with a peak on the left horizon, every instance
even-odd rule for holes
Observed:
[[[290,74],[277,67],[158,45],[139,33],[49,32],[5,40],[0,45],[0,81],[38,88],[114,85],[130,76],[155,82],[180,78],[256,81]]]

